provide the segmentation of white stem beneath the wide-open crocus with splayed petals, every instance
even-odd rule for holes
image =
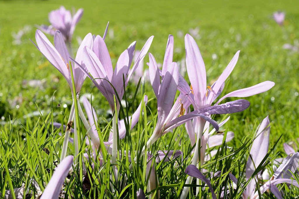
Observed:
[[[197,131],[197,136],[196,136],[197,137],[196,138],[196,145],[195,145],[193,159],[192,159],[192,163],[191,163],[191,164],[196,165],[196,166],[198,166],[198,159],[199,159],[198,151],[199,151],[200,145],[201,145],[200,142],[201,142],[202,133],[203,133],[203,130],[204,130],[204,127],[205,127],[205,120],[203,118],[198,118],[197,122],[199,122],[199,125],[198,125],[198,128],[197,128],[198,131]],[[202,162],[201,162],[201,165],[202,165]],[[193,180],[193,177],[188,176],[185,184],[191,184],[192,180]],[[196,181],[196,184],[199,184],[199,181]],[[188,187],[188,186],[184,187],[180,199],[186,199],[187,198],[189,189],[190,189],[190,187]],[[196,189],[196,192],[197,192],[197,189]]]

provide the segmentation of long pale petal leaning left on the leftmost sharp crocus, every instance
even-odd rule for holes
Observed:
[[[36,30],[35,39],[39,51],[48,59],[48,61],[65,77],[71,87],[70,74],[65,62],[62,60],[58,51],[54,48],[48,38],[40,30]]]

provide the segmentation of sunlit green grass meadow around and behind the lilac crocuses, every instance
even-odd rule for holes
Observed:
[[[201,165],[209,171],[205,176],[210,180],[215,193],[218,193],[217,198],[226,198],[228,195],[230,198],[241,197],[246,183],[249,183],[244,179],[244,173],[252,139],[258,125],[267,115],[271,126],[269,150],[267,149],[265,158],[267,164],[256,165],[256,169],[268,169],[270,174],[273,174],[273,160],[287,156],[284,143],[288,143],[295,151],[298,150],[297,1],[0,1],[2,197],[5,190],[22,187],[23,183],[26,192],[34,192],[32,179],[37,181],[42,192],[60,162],[64,136],[58,135],[61,129],[52,126],[51,123],[67,124],[73,102],[72,95],[60,72],[29,39],[36,43],[37,26],[49,25],[48,13],[61,5],[69,10],[84,10],[74,30],[73,52],[77,51],[80,45],[78,41],[82,41],[87,33],[103,36],[109,21],[105,43],[113,66],[123,50],[133,41],[137,41],[136,50],[141,50],[152,35],[154,39],[148,52],[155,56],[157,63],[163,63],[167,38],[171,34],[174,37],[173,61],[178,62],[181,75],[190,83],[184,63],[184,36],[189,33],[198,44],[205,62],[208,86],[217,80],[235,53],[240,50],[236,67],[225,81],[224,91],[220,96],[263,81],[275,83],[275,86],[266,92],[244,98],[250,102],[250,107],[242,112],[229,114],[230,119],[220,127],[219,132],[225,132],[225,135],[227,132],[234,132],[234,138],[228,143],[224,142],[219,148],[216,147],[216,158],[207,161],[204,166]],[[283,25],[277,24],[273,19],[273,13],[279,10],[286,14]],[[48,34],[46,36],[53,43],[53,37]],[[286,44],[291,49],[286,49]],[[147,69],[148,53],[143,62]],[[120,113],[119,118],[126,118],[126,115],[131,114],[142,101],[144,94],[149,99],[147,108],[141,114],[138,124],[129,131],[130,135],[117,143],[120,154],[129,150],[131,155],[132,151],[142,153],[142,147],[156,125],[157,99],[149,80],[141,81],[140,87],[133,81],[129,82],[124,97],[127,98],[127,104],[124,102],[125,106],[121,108],[124,113]],[[81,103],[83,96],[92,99],[92,106],[98,116],[98,132],[103,133],[103,139],[106,141],[106,131],[111,129],[109,126],[112,125],[109,103],[89,78],[86,78],[79,93]],[[179,96],[179,92],[176,96]],[[239,98],[227,98],[223,103],[237,99]],[[228,115],[215,115],[212,118],[219,123],[227,117]],[[90,156],[94,149],[83,141],[88,139],[88,129],[84,127],[83,122],[80,121],[79,124],[78,130],[82,137],[79,141],[79,157],[82,157],[85,151]],[[89,171],[89,177],[86,179],[89,178],[89,183],[82,178],[83,170],[79,165],[83,164],[83,158],[81,162],[79,158],[79,163],[73,167],[74,174],[69,176],[65,183],[63,194],[66,198],[135,198],[138,197],[136,191],[141,188],[147,198],[155,198],[158,195],[161,198],[179,198],[187,179],[184,171],[191,163],[188,157],[192,156],[193,147],[183,125],[167,133],[150,147],[149,151],[152,154],[159,150],[182,152],[179,158],[176,157],[170,162],[154,163],[159,186],[152,191],[146,191],[149,179],[146,177],[147,161],[143,157],[144,152],[137,152],[136,158],[139,162],[136,163],[129,163],[126,155],[120,158],[116,167],[119,171],[118,179],[122,180],[115,181],[115,184],[111,180],[111,168],[115,165],[111,165],[109,155],[104,155],[104,165],[97,160],[89,160],[90,164],[86,163]],[[44,148],[50,151],[50,155]],[[74,151],[75,147],[70,144],[67,154],[73,155]],[[207,151],[211,152],[212,149]],[[97,151],[97,157],[101,152]],[[129,169],[130,166],[133,169]],[[211,174],[216,171],[222,171],[217,179]],[[237,188],[233,188],[228,177],[229,172],[242,179],[242,182],[236,183]],[[125,178],[127,184],[121,184]],[[187,197],[212,198],[209,189],[205,188],[205,183],[199,185],[200,192],[195,194],[196,181],[193,182],[194,186],[187,185],[192,187]],[[263,184],[262,181],[257,183]],[[229,189],[230,194],[226,195],[225,189],[225,195],[221,196],[222,187]],[[295,198],[299,194],[298,188],[290,189],[287,185],[280,186],[279,190],[284,191],[284,198]],[[268,192],[260,195],[260,198],[274,197]],[[31,198],[35,198],[35,195],[32,194]]]

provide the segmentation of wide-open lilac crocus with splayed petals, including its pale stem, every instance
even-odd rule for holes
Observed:
[[[221,94],[222,89],[224,87],[225,80],[228,78],[235,65],[237,64],[237,60],[239,57],[238,51],[222,74],[219,76],[217,81],[211,85],[207,86],[207,77],[205,64],[200,54],[199,48],[196,44],[196,41],[192,36],[186,34],[185,36],[185,50],[186,50],[186,67],[187,73],[189,76],[189,80],[191,86],[187,84],[184,78],[180,78],[180,84],[178,86],[178,90],[181,93],[187,96],[187,100],[193,105],[194,109],[202,109],[205,107],[210,107],[213,101]],[[219,104],[223,99],[228,97],[248,97],[251,95],[255,95],[261,92],[265,92],[274,86],[274,82],[265,81],[260,84],[254,85],[252,87],[236,90],[233,92],[224,95],[220,98],[216,104]],[[191,91],[191,92],[190,92]],[[198,163],[198,150],[201,150],[200,163],[202,164],[205,158],[205,149],[208,141],[208,127],[209,124],[205,124],[206,121],[202,118],[197,118],[193,120],[193,128],[189,128],[188,134],[191,139],[191,142],[194,143],[194,139],[196,138],[196,146],[195,153],[193,155],[192,164],[196,165]],[[204,133],[205,132],[205,133]],[[195,136],[196,134],[196,136]],[[201,143],[199,143],[199,140]],[[200,147],[203,146],[203,147]],[[188,177],[189,178],[189,177]],[[191,180],[191,178],[187,179],[187,181]],[[189,187],[184,187],[183,194],[181,195],[181,199],[187,197],[187,192]]]

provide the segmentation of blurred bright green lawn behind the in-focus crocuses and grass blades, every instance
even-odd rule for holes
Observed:
[[[242,139],[252,131],[256,122],[260,123],[269,115],[272,122],[270,143],[281,134],[283,137],[279,146],[285,141],[296,140],[299,131],[299,2],[295,0],[0,1],[2,125],[7,124],[9,115],[11,119],[17,118],[16,123],[24,124],[28,119],[30,125],[33,124],[39,117],[34,102],[48,113],[55,90],[52,108],[57,118],[66,114],[64,104],[71,105],[68,84],[29,41],[29,38],[35,41],[36,26],[49,25],[48,13],[61,5],[66,9],[84,9],[74,31],[74,52],[78,47],[77,38],[80,40],[90,32],[103,36],[110,21],[105,41],[113,63],[133,41],[137,41],[136,49],[140,50],[151,35],[155,38],[149,52],[157,62],[162,63],[169,34],[175,39],[174,61],[181,62],[185,56],[184,35],[190,33],[201,50],[208,85],[211,85],[237,50],[241,50],[224,93],[266,80],[274,81],[276,85],[266,93],[246,98],[251,106],[242,113],[231,114],[231,120],[223,129],[234,131],[236,138]],[[278,10],[286,13],[283,26],[272,18]],[[19,31],[23,34],[16,39],[16,35],[22,33]],[[47,36],[53,41],[50,35]],[[291,44],[293,50],[284,49],[284,44]],[[144,60],[148,62],[148,56]],[[127,91],[133,94],[135,87],[131,84]],[[145,92],[149,97],[154,96],[149,83],[145,85]],[[139,93],[138,100],[142,94],[141,91]],[[105,116],[108,103],[89,79],[85,81],[81,94],[94,95],[93,105]],[[58,103],[62,105],[59,108],[56,107]],[[148,105],[154,110],[155,100]],[[22,129],[19,130],[22,134]]]

